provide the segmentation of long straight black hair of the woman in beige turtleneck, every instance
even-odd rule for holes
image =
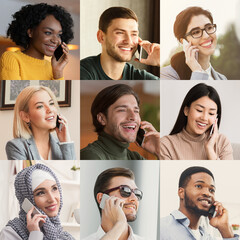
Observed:
[[[201,97],[208,96],[211,100],[213,100],[217,104],[217,115],[218,115],[218,128],[221,122],[221,114],[222,114],[222,106],[220,97],[215,88],[206,85],[205,83],[199,83],[192,87],[186,97],[183,100],[182,106],[178,113],[177,120],[175,125],[170,133],[170,135],[177,134],[183,130],[184,127],[187,125],[187,116],[184,114],[184,108],[190,107],[192,102],[198,100]]]

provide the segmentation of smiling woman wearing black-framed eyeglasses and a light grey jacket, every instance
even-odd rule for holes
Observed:
[[[180,12],[174,23],[174,35],[184,50],[173,55],[171,64],[161,69],[160,79],[227,80],[210,63],[217,45],[216,30],[209,11],[189,7]]]

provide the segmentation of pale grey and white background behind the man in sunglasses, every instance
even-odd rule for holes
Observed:
[[[138,217],[130,223],[135,234],[156,239],[158,219],[159,161],[84,161],[81,160],[81,239],[97,231],[100,214],[93,189],[97,176],[111,167],[130,168],[136,185],[143,191]]]

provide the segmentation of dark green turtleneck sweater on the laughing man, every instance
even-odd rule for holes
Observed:
[[[139,153],[128,149],[129,143],[121,143],[105,132],[98,140],[81,149],[81,160],[145,160]]]

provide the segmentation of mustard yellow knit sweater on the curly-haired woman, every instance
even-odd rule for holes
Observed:
[[[0,58],[0,80],[52,79],[52,65],[45,59],[33,58],[21,51],[6,51]]]

